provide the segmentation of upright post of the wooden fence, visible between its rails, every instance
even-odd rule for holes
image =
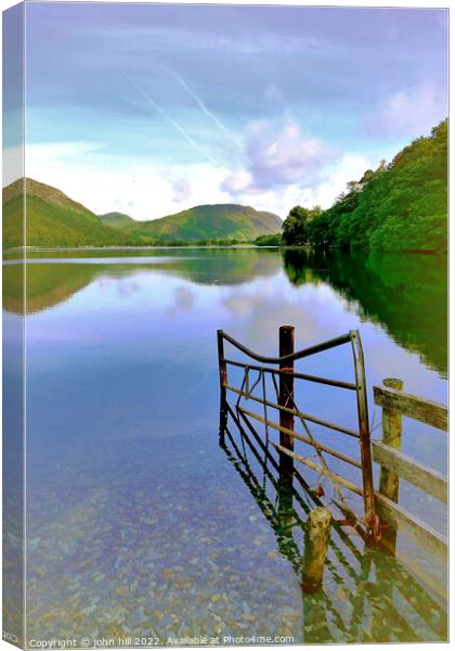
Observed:
[[[403,391],[404,382],[398,378],[386,378],[382,384],[387,388]],[[398,409],[393,406],[382,407],[382,443],[396,450],[401,450],[401,434],[402,434],[402,417]],[[381,467],[379,475],[379,493],[398,503],[400,488],[400,476]],[[382,532],[382,547],[394,554],[396,547],[396,529],[387,527]]]

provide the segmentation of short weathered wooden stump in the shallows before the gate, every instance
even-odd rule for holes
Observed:
[[[315,592],[322,584],[330,538],[330,521],[332,513],[325,507],[315,507],[308,518],[302,573],[303,592]]]

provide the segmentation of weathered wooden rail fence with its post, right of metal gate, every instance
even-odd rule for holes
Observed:
[[[384,545],[395,552],[396,534],[402,532],[420,547],[447,558],[447,539],[399,503],[400,478],[447,503],[447,480],[432,468],[401,451],[402,417],[418,420],[447,431],[447,408],[419,396],[402,393],[403,382],[394,378],[374,387],[375,404],[382,408],[382,441],[372,442],[373,460],[380,465],[379,488],[375,493],[376,508],[382,521],[392,525],[385,529]]]

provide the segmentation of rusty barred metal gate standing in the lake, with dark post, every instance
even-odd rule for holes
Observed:
[[[346,521],[355,523],[359,518],[348,506],[341,487],[361,496],[363,498],[364,515],[362,520],[365,523],[365,537],[374,541],[380,535],[379,518],[375,508],[375,493],[373,485],[370,436],[368,424],[368,407],[366,397],[365,363],[362,349],[362,341],[358,330],[351,330],[347,334],[323,342],[301,350],[294,349],[295,329],[292,326],[282,326],[280,328],[280,356],[269,357],[259,355],[250,350],[235,339],[230,336],[223,330],[218,330],[218,360],[219,379],[221,390],[220,404],[220,427],[226,425],[227,417],[231,414],[238,424],[243,422],[249,429],[252,427],[251,421],[260,423],[265,429],[268,444],[270,443],[280,452],[280,468],[286,473],[294,472],[294,462],[297,461],[327,477],[333,485],[337,499],[333,501],[344,514]],[[240,361],[225,355],[225,344],[233,346],[237,352],[248,358],[248,361]],[[308,358],[318,353],[349,344],[352,350],[354,382],[344,382],[330,378],[323,378],[309,373],[298,372],[295,362]],[[240,369],[243,371],[239,386],[234,386],[230,381],[230,368]],[[269,382],[266,381],[269,380]],[[334,386],[349,392],[354,392],[356,397],[356,420],[358,429],[347,427],[342,424],[330,422],[318,416],[301,411],[296,404],[296,381],[312,382],[322,385]],[[273,387],[274,397],[269,398],[268,385]],[[235,409],[232,408],[227,395],[236,396]],[[262,407],[262,413],[257,413],[245,407],[246,400],[252,400],[256,405]],[[280,413],[278,422],[269,417],[269,410],[275,410]],[[295,421],[298,421],[303,432],[297,432]],[[359,459],[354,459],[333,447],[316,441],[312,433],[311,425],[317,425],[329,429],[339,434],[353,437],[359,441]],[[280,443],[269,438],[270,430],[280,433]],[[316,454],[318,463],[313,459],[303,457],[295,451],[295,441],[300,441],[311,446]],[[344,463],[358,468],[362,473],[362,486],[355,485],[351,480],[341,474],[333,472],[327,463],[326,456],[337,458]],[[324,495],[322,487],[318,488],[321,497]]]

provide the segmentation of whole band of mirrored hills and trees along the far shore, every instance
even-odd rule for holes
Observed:
[[[447,265],[424,254],[343,254],[286,250],[166,250],[142,252],[34,253],[27,265],[26,310],[34,314],[69,299],[98,278],[138,273],[178,276],[196,284],[235,286],[274,277],[283,267],[295,286],[327,284],[394,341],[438,370],[447,372]],[[38,264],[37,264],[38,263]],[[56,266],[55,266],[56,265]],[[22,309],[21,265],[3,266],[3,303]],[[183,296],[181,296],[183,298]],[[236,297],[238,301],[238,297]],[[250,304],[250,298],[248,298]],[[184,305],[184,303],[182,303]],[[233,310],[244,307],[231,299]]]

